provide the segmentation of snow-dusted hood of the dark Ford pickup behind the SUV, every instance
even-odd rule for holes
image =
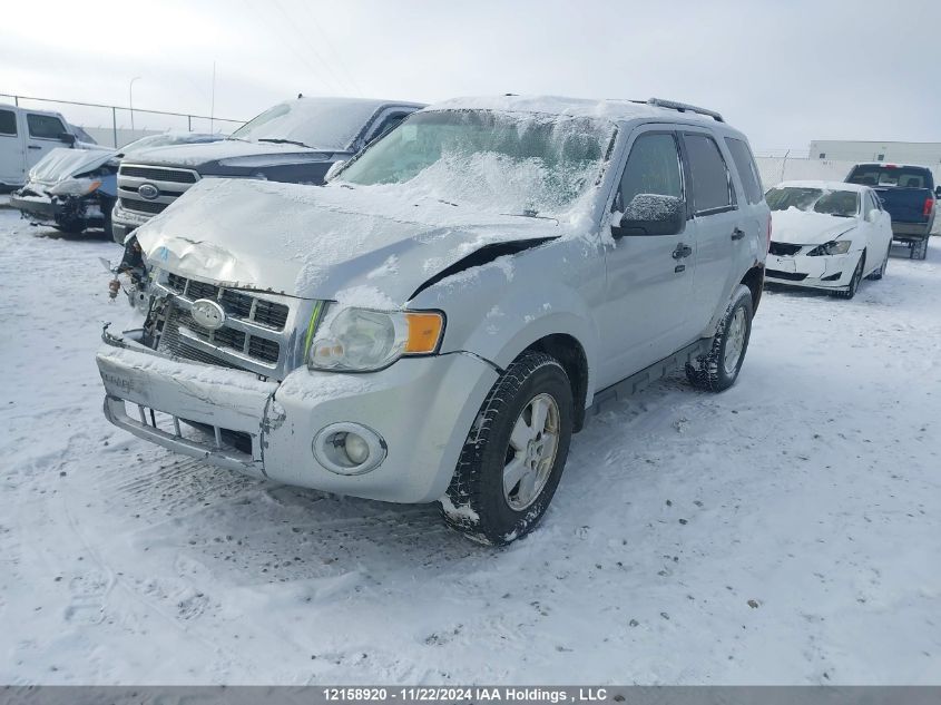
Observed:
[[[306,161],[325,161],[332,150],[322,151],[297,145],[222,139],[195,145],[174,145],[141,149],[129,163],[195,168],[203,175],[226,175],[233,167],[264,167]]]

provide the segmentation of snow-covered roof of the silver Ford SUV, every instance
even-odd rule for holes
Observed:
[[[692,106],[690,106],[692,107]],[[670,121],[705,121],[709,125],[718,124],[713,117],[693,112],[678,111],[672,108],[658,107],[645,101],[634,101],[626,98],[606,98],[601,100],[589,98],[566,98],[562,96],[480,96],[452,98],[435,102],[429,110],[497,110],[501,112],[543,112],[549,115],[568,115],[571,117],[590,117],[606,119],[612,123],[627,120],[657,118]]]

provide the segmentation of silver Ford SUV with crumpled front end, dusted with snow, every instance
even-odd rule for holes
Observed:
[[[453,100],[326,187],[206,179],[137,231],[115,424],[258,478],[529,531],[586,410],[734,383],[770,212],[745,137],[651,99]]]

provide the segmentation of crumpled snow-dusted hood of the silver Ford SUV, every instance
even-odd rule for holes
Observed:
[[[561,231],[555,219],[481,213],[402,186],[205,179],[135,234],[148,264],[184,276],[394,307],[481,247]]]

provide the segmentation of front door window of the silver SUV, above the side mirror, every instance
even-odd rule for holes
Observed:
[[[679,154],[672,134],[640,135],[634,141],[620,178],[618,208],[627,209],[639,194],[683,198]]]

